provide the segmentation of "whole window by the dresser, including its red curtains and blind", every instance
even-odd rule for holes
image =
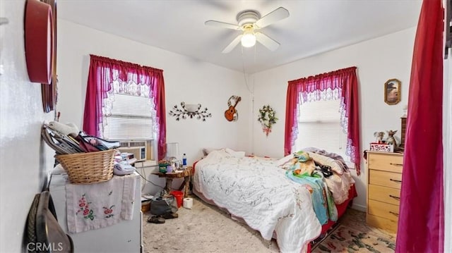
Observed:
[[[356,69],[356,67],[343,68],[289,81],[285,111],[285,155],[295,152],[294,149],[299,147],[328,147],[324,148],[327,152],[339,150],[335,153],[345,153],[343,158],[348,157],[352,163],[355,163],[355,169],[359,175],[361,154]],[[326,104],[319,103],[320,101],[325,101]],[[333,109],[335,106],[337,107]],[[330,113],[330,111],[338,113]],[[339,116],[339,121],[333,117],[336,115]],[[338,124],[340,128],[337,131],[346,132],[346,141],[344,137],[340,137],[342,133],[334,132]],[[333,140],[335,135],[339,136],[337,141]],[[304,140],[299,140],[302,138]]]

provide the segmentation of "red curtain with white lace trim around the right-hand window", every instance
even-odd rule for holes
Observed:
[[[356,67],[343,68],[329,73],[289,81],[285,110],[284,154],[290,154],[298,135],[298,106],[307,101],[308,94],[326,90],[340,90],[341,123],[347,130],[347,155],[360,173],[359,105]]]

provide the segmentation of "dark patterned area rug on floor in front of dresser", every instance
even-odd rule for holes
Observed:
[[[394,252],[396,242],[374,235],[339,225],[325,240],[323,240],[312,252]]]

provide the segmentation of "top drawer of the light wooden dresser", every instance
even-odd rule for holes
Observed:
[[[369,153],[369,169],[402,173],[403,155]]]

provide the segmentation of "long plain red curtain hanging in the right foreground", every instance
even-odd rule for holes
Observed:
[[[417,24],[396,252],[444,251],[443,11],[424,0]]]

